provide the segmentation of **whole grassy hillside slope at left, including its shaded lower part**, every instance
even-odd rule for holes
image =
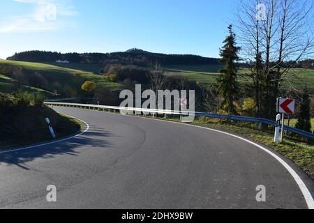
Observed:
[[[82,93],[80,88],[87,80],[110,89],[117,89],[119,87],[119,84],[107,81],[105,76],[45,63],[6,61],[0,59],[0,75],[0,92],[6,93],[17,83],[17,79],[22,79],[20,82],[22,82],[23,88],[28,91],[45,91],[68,96],[74,93]],[[31,85],[27,81],[30,77],[34,79],[35,77],[33,76],[36,78],[40,77],[40,83],[37,86],[34,84]],[[38,80],[36,81],[39,82]]]

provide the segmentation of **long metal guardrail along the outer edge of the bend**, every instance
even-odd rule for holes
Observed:
[[[108,109],[108,110],[114,110],[114,112],[117,111],[133,111],[133,112],[141,112],[141,114],[174,114],[179,116],[188,116],[188,115],[194,115],[194,116],[205,116],[210,118],[221,118],[221,119],[228,119],[233,121],[245,121],[245,122],[251,122],[251,123],[264,123],[267,125],[275,126],[275,121],[269,120],[267,118],[255,118],[255,117],[248,117],[248,116],[233,116],[233,115],[227,115],[227,114],[212,114],[207,112],[188,112],[188,111],[173,111],[173,110],[160,110],[160,109],[142,109],[137,107],[115,107],[115,106],[106,106],[106,105],[91,105],[91,104],[77,104],[77,103],[62,103],[62,102],[44,102],[45,105],[52,105],[52,106],[65,106],[65,107],[83,107],[83,108],[94,108],[94,109]],[[292,128],[290,126],[284,125],[284,130],[287,130],[289,132],[293,132],[295,134],[299,134],[304,137],[308,137],[310,139],[314,139],[314,134],[311,132],[306,132],[304,130],[299,130],[297,128]]]

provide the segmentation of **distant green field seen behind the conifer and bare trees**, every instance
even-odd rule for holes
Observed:
[[[211,86],[216,83],[218,70],[221,66],[167,66],[163,69],[165,74],[169,76],[186,77],[195,82],[200,82],[202,86]],[[248,72],[247,69],[239,70],[239,74]],[[239,77],[240,84],[245,84],[246,79]],[[314,91],[314,70],[292,69],[290,75],[285,77],[285,82],[281,86],[282,89],[303,89],[308,86],[311,91]]]

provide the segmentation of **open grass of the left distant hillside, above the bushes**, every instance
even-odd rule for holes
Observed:
[[[5,61],[0,59],[0,66],[3,64],[10,64],[13,66],[21,66],[28,72],[38,72],[40,75],[45,77],[48,86],[47,90],[53,92],[59,90],[64,86],[69,86],[75,91],[81,91],[82,84],[87,81],[94,81],[100,86],[106,86],[110,89],[117,89],[119,84],[108,82],[104,76],[94,75],[92,72],[84,70],[75,70],[70,68],[62,68],[60,66],[53,66],[45,63],[30,63],[21,61]],[[0,76],[0,91],[6,92],[8,84],[15,82],[14,79],[9,79],[6,74]]]

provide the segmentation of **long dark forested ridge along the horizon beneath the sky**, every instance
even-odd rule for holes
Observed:
[[[158,54],[142,49],[129,49],[126,52],[114,53],[66,53],[27,51],[16,53],[8,57],[11,61],[27,61],[50,63],[57,60],[67,60],[70,63],[119,63],[124,65],[149,66],[149,63],[160,63],[161,66],[169,65],[208,65],[218,64],[219,59],[207,58],[190,54]]]

